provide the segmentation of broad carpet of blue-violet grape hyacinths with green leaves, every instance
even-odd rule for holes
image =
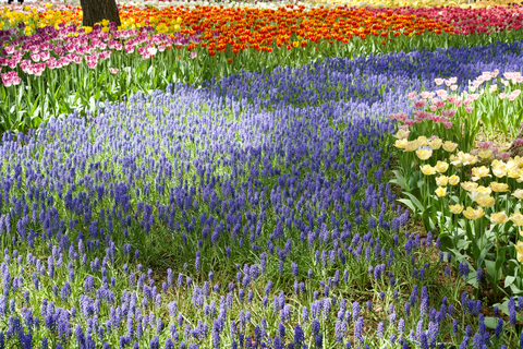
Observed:
[[[326,59],[5,133],[0,348],[515,347],[521,298],[506,324],[434,284],[450,258],[405,231],[385,116],[522,48]]]

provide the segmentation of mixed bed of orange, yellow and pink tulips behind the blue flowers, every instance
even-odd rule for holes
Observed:
[[[427,49],[486,45],[512,41],[521,32],[522,13],[516,8],[482,10],[495,24],[486,37],[470,35],[483,33],[484,24],[465,22],[467,12],[412,11],[123,5],[122,27],[105,22],[82,28],[78,7],[4,10],[0,125],[25,131],[49,115],[93,112],[96,101],[129,99],[133,92],[174,82],[271,70],[282,61],[299,67],[324,57],[409,51],[419,45]],[[511,20],[494,20],[500,16]],[[473,26],[477,28],[470,29]],[[153,57],[156,64],[148,62]]]

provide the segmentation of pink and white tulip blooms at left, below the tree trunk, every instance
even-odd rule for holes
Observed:
[[[5,76],[2,82],[5,86],[20,84],[21,79],[15,71],[17,67],[28,75],[40,76],[46,69],[60,69],[84,61],[88,68],[95,69],[100,61],[109,59],[112,51],[124,49],[127,55],[137,51],[142,59],[148,59],[173,44],[184,44],[184,37],[179,37],[183,36],[181,34],[168,36],[153,32],[154,27],[142,27],[139,32],[117,31],[113,23],[109,24],[109,32],[102,31],[99,25],[95,25],[90,33],[78,29],[74,24],[61,24],[58,29],[45,27],[37,34],[8,41],[3,57],[0,56],[0,69],[5,67],[12,71],[2,75]]]

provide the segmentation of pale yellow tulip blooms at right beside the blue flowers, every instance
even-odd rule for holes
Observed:
[[[442,148],[448,153],[452,153],[458,147],[458,144],[443,141],[438,136],[427,139],[422,135],[409,141],[409,132],[404,130],[400,130],[394,136],[398,139],[394,143],[397,148],[403,149],[404,153],[414,153],[424,163],[433,158],[435,151]],[[511,186],[523,182],[523,158],[516,156],[508,160],[494,159],[490,164],[487,164],[491,159],[491,151],[479,149],[475,153],[477,155],[460,151],[457,154],[451,154],[448,161],[433,159],[434,165],[423,164],[419,166],[419,170],[427,177],[439,174],[435,177],[437,188],[434,191],[438,197],[447,196],[449,185],[450,190],[459,191],[461,186],[466,192],[466,196],[472,201],[472,205],[465,205],[465,208],[461,203],[449,204],[448,208],[453,215],[462,214],[469,220],[476,220],[485,216],[486,208],[491,208],[488,217],[486,217],[491,224],[503,225],[512,221],[520,229],[520,227],[523,227],[523,214],[520,210],[514,210],[509,216],[507,210],[497,210],[495,206],[498,195],[506,193],[507,200],[509,200]],[[482,163],[485,163],[485,165],[482,165]],[[464,167],[474,165],[477,166],[472,167],[470,172],[464,171]],[[459,173],[445,174],[450,166]],[[466,176],[465,173],[470,173],[471,180],[462,182],[461,178]],[[479,184],[482,180],[485,181],[484,185]],[[457,188],[458,184],[461,185]],[[523,189],[514,189],[510,196],[523,200]],[[477,205],[476,208],[473,207],[474,204]],[[515,207],[515,205],[512,207]],[[521,230],[520,234],[523,237]],[[523,241],[519,241],[514,248],[518,252],[518,261],[523,263]]]

